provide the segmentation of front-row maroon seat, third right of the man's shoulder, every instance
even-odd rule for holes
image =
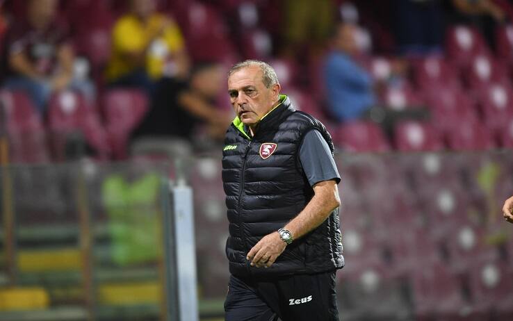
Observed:
[[[447,144],[451,149],[487,150],[495,147],[488,129],[479,122],[458,122],[448,132]]]

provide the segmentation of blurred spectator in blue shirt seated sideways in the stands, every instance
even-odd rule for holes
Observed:
[[[356,62],[356,54],[355,26],[340,24],[324,69],[329,111],[339,122],[358,119],[375,104],[373,80]]]

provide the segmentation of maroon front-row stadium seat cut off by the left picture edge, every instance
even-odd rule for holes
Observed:
[[[47,163],[46,130],[31,99],[19,91],[0,91],[0,112],[8,136],[10,162]]]

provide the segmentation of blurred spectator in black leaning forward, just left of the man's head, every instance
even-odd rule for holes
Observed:
[[[210,138],[222,139],[232,118],[215,108],[215,99],[224,84],[222,77],[217,63],[199,63],[193,67],[189,81],[171,78],[159,81],[152,108],[132,133],[132,138],[138,140],[136,145],[140,142],[160,145],[158,141],[167,144],[170,140],[190,145],[197,124],[206,125]]]

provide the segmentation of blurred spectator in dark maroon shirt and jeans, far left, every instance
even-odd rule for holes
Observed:
[[[87,79],[74,79],[74,52],[67,27],[56,21],[58,0],[30,0],[26,19],[15,20],[6,36],[5,87],[24,90],[44,112],[52,92],[78,90],[90,101],[95,87]]]

